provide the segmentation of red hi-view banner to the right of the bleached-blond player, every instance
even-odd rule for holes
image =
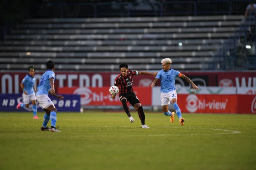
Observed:
[[[187,113],[237,113],[237,95],[179,94],[182,112]]]

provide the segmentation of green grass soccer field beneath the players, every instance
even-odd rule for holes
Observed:
[[[256,115],[58,113],[61,133],[32,113],[0,113],[0,170],[255,170]],[[49,124],[48,124],[49,125]]]

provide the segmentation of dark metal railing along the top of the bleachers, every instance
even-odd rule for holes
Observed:
[[[254,0],[256,2],[256,0]],[[244,14],[249,0],[138,1],[136,3],[43,3],[30,8],[31,17],[133,17]]]

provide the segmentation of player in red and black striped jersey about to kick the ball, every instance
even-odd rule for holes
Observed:
[[[137,96],[134,94],[133,88],[132,88],[132,82],[133,82],[133,76],[135,75],[151,75],[156,77],[157,73],[149,73],[146,71],[135,71],[135,70],[129,70],[128,65],[125,63],[122,63],[119,65],[121,74],[119,74],[115,79],[115,86],[119,88],[119,98],[122,102],[123,108],[127,114],[127,116],[130,119],[130,122],[133,123],[134,119],[131,116],[130,109],[127,105],[127,102],[129,102],[135,110],[138,111],[140,121],[141,121],[141,127],[142,128],[149,128],[147,125],[145,125],[145,113],[143,111],[143,108],[140,104],[140,100],[137,98]],[[112,95],[111,98],[115,99],[116,95]]]

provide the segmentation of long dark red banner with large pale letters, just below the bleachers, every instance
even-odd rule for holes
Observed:
[[[44,72],[36,72],[35,86],[38,85],[41,75]],[[200,86],[223,86],[223,87],[252,87],[256,88],[256,72],[191,72],[181,71],[188,76],[196,85]],[[26,76],[26,72],[1,72],[0,93],[18,94],[22,93],[20,82]],[[119,72],[55,72],[55,88],[58,87],[110,87]],[[133,85],[139,87],[150,87],[154,77],[149,75],[134,76]],[[160,81],[156,85],[160,85]],[[186,80],[177,77],[176,85],[189,85]]]

